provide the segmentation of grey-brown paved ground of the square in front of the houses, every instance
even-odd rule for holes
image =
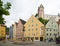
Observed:
[[[0,42],[0,46],[60,46],[60,44],[55,44],[55,42],[41,42],[41,41],[36,41],[33,43],[29,44],[13,44],[13,42],[7,41],[5,42]]]

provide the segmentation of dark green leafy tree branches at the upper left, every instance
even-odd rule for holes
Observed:
[[[3,15],[9,15],[9,9],[11,8],[10,2],[3,4],[3,1],[0,0],[0,24],[4,24]]]

